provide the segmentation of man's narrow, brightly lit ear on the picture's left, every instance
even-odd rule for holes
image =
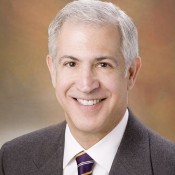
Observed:
[[[55,86],[56,86],[56,68],[54,65],[53,58],[50,55],[47,55],[46,63],[47,63],[47,66],[49,68],[49,72],[51,75],[52,85],[55,88]]]

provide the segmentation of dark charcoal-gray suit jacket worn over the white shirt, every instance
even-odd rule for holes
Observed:
[[[0,151],[0,175],[62,175],[66,122],[14,139]],[[175,175],[175,145],[130,112],[109,175]]]

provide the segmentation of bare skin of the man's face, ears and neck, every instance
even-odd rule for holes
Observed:
[[[56,97],[71,133],[85,149],[122,119],[141,66],[135,58],[125,76],[120,38],[112,25],[65,22],[57,38],[56,60],[47,56]]]

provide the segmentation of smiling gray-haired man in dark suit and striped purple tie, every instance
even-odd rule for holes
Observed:
[[[74,1],[49,27],[47,65],[66,122],[6,143],[0,175],[174,175],[175,145],[127,108],[137,30],[112,3]]]

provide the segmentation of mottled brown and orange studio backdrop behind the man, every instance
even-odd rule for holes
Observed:
[[[0,0],[0,146],[64,120],[46,66],[47,28],[66,0]],[[113,0],[139,31],[143,66],[129,106],[175,141],[175,1]]]

